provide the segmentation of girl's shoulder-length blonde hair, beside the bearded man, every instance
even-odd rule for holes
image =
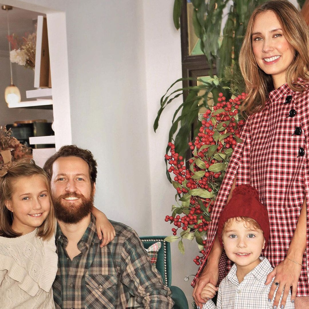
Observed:
[[[43,240],[50,239],[54,233],[55,211],[51,198],[49,180],[44,170],[37,166],[32,159],[21,159],[8,168],[7,174],[0,177],[0,235],[4,237],[18,237],[21,234],[12,229],[13,216],[6,208],[6,201],[11,200],[14,193],[14,182],[20,177],[39,175],[44,179],[49,194],[50,211],[42,225],[38,227],[37,236]]]

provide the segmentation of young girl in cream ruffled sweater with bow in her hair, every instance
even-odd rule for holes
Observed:
[[[12,163],[9,150],[1,155],[0,308],[55,308],[58,257],[49,180],[33,160]]]

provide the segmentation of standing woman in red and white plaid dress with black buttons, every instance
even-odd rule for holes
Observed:
[[[279,284],[274,305],[284,308],[292,288],[295,308],[309,308],[308,51],[307,25],[292,4],[274,0],[256,8],[239,57],[248,93],[242,110],[248,119],[212,210],[206,253],[192,282],[200,306],[205,284],[218,284],[231,267],[216,236],[220,213],[235,186],[250,184],[269,212],[271,235],[262,254],[275,268],[266,284],[273,277]],[[276,288],[273,284],[269,298]]]

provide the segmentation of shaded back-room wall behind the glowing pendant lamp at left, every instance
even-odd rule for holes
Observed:
[[[46,119],[53,122],[53,111],[29,108],[8,108],[4,100],[4,90],[11,83],[9,51],[0,51],[0,125],[15,121]],[[12,64],[13,83],[19,88],[21,99],[26,100],[26,90],[33,88],[34,73],[16,63]]]

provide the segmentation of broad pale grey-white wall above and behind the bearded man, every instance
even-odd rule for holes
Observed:
[[[68,121],[72,143],[91,150],[98,162],[96,206],[109,218],[150,235],[142,0],[8,0],[8,4],[47,13],[47,19],[49,13],[65,12]]]

